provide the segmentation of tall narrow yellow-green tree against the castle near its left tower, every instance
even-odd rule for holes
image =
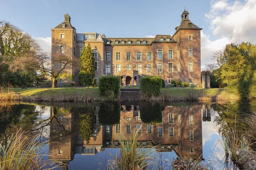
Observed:
[[[92,54],[90,43],[87,46],[84,46],[79,60],[81,62],[79,82],[85,85],[92,85],[93,77],[95,75],[95,68],[94,57]]]

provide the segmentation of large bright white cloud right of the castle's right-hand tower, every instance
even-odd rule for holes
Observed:
[[[227,43],[251,42],[256,44],[256,0],[230,2],[229,0],[212,0],[211,8],[205,15],[210,23],[216,40],[201,32],[201,65],[211,60],[216,50],[224,48]]]

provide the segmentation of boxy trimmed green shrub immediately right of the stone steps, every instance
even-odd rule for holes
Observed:
[[[162,87],[160,76],[147,76],[140,79],[140,89],[147,97],[158,96]]]

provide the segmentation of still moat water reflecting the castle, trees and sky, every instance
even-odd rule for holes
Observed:
[[[45,159],[61,161],[70,170],[96,170],[106,169],[113,160],[111,154],[118,155],[118,136],[128,138],[133,129],[140,129],[138,145],[159,145],[157,154],[163,167],[171,169],[177,156],[201,156],[211,169],[218,170],[227,166],[220,126],[231,127],[234,115],[238,118],[255,111],[253,103],[2,103],[0,142],[5,145],[22,127],[28,133],[41,133],[41,139],[50,139],[45,151],[50,156]],[[89,140],[83,132],[88,114],[92,118]]]

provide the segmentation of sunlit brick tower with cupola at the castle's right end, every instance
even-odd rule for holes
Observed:
[[[177,78],[183,82],[201,84],[201,29],[189,20],[184,8],[173,35],[177,41]]]

